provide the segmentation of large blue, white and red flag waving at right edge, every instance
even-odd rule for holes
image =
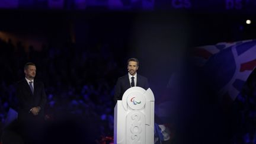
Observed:
[[[193,56],[196,65],[210,75],[218,95],[235,100],[256,67],[255,53],[256,40],[244,40],[196,47]]]

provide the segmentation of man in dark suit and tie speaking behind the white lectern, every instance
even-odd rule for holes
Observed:
[[[149,88],[148,79],[142,75],[137,74],[139,69],[139,60],[130,58],[127,60],[128,73],[117,80],[114,92],[114,101],[121,100],[124,92],[131,87]]]

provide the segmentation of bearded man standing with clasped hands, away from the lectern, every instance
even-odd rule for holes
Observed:
[[[18,120],[30,121],[43,119],[46,93],[43,82],[36,81],[36,65],[26,63],[25,78],[17,84]]]

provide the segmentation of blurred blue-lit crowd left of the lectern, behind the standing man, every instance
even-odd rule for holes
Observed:
[[[79,47],[42,46],[28,49],[11,39],[0,39],[0,125],[3,128],[9,108],[17,108],[14,84],[24,78],[26,62],[36,63],[36,79],[44,82],[47,94],[46,118],[49,121],[84,121],[97,127],[98,136],[113,136],[113,91],[117,68],[107,45]],[[73,118],[72,118],[73,117]],[[92,125],[91,125],[92,126]]]

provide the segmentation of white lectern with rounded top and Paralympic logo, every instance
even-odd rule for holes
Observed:
[[[114,144],[153,144],[154,108],[150,88],[127,89],[114,108]]]

